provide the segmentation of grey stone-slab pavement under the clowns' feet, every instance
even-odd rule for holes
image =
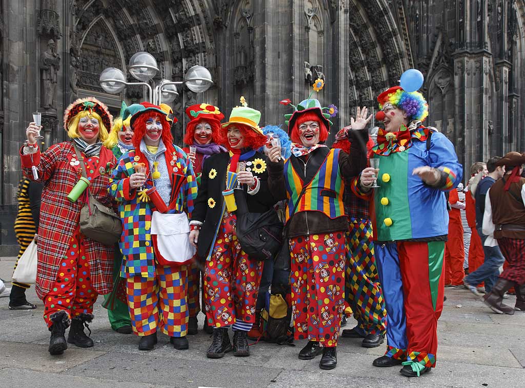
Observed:
[[[14,257],[0,261],[0,277],[9,280]],[[6,284],[10,286],[10,283]],[[301,361],[296,346],[259,342],[246,358],[226,354],[206,358],[211,338],[204,332],[188,336],[189,350],[175,350],[159,335],[150,352],[137,349],[138,339],[111,330],[99,298],[90,324],[95,347],[70,345],[60,356],[47,352],[49,332],[42,319],[41,301],[31,288],[29,301],[36,310],[9,310],[0,298],[0,387],[498,387],[525,388],[525,312],[514,316],[493,314],[467,290],[447,288],[439,320],[437,368],[419,379],[407,379],[400,367],[374,368],[385,344],[365,349],[360,341],[340,339],[338,367],[321,371],[319,357]],[[514,304],[514,297],[507,299]],[[203,321],[204,316],[199,316]],[[351,328],[350,319],[346,328]]]

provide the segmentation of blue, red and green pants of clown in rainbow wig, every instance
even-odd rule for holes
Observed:
[[[418,363],[417,368],[435,367],[445,242],[376,243],[374,248],[388,317],[385,354]]]

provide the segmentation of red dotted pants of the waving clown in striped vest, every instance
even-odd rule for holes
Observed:
[[[344,237],[341,231],[289,240],[295,339],[337,346],[344,311]]]

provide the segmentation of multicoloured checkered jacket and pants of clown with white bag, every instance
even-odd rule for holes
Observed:
[[[195,175],[191,164],[187,163],[184,151],[175,145],[173,148],[174,152],[170,153],[161,142],[155,155],[145,152],[144,155],[149,155],[147,157],[150,168],[152,160],[155,160],[171,166],[173,170],[171,180],[155,180],[158,191],[169,189],[171,192],[168,212],[191,213],[193,201],[197,196]],[[139,158],[135,150],[122,155],[113,171],[108,189],[119,204],[122,219],[120,250],[124,258],[121,276],[127,278],[128,306],[133,332],[138,336],[148,336],[160,329],[170,337],[184,337],[188,322],[188,268],[186,265],[161,265],[155,258],[150,234],[155,208],[152,202],[140,200],[139,189],[130,187],[129,177],[134,173],[133,163]],[[169,172],[172,171],[170,167],[167,168]],[[174,192],[171,187],[175,173],[185,176],[178,192]],[[152,185],[153,181],[148,179],[144,187],[150,188]],[[170,187],[163,188],[161,185]]]

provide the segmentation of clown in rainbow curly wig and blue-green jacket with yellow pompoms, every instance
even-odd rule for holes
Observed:
[[[403,363],[401,373],[413,377],[436,363],[448,233],[444,191],[461,181],[462,167],[452,143],[421,125],[428,115],[421,93],[394,87],[377,101],[376,118],[385,127],[371,159],[379,159],[379,173],[367,167],[352,185],[360,198],[372,194],[375,256],[387,312],[386,354],[373,364]],[[379,187],[371,190],[375,174]]]

